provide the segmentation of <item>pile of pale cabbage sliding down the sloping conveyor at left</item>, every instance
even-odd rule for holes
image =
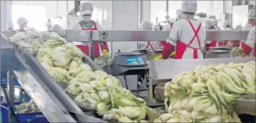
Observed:
[[[67,83],[66,92],[82,110],[95,110],[107,121],[147,122],[144,120],[147,111],[152,109],[146,107],[143,99],[136,98],[129,90],[121,87],[115,77],[100,70],[93,71],[82,61],[84,53],[75,45],[67,44],[66,39],[57,33],[41,35],[33,39],[38,41],[36,48],[32,42],[28,42],[31,39],[19,39],[17,35],[11,41],[16,44],[25,42],[29,46],[25,49],[36,56],[56,82]]]

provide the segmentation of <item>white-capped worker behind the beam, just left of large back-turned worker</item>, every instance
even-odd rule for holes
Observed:
[[[149,21],[141,22],[141,30],[152,30],[153,29],[152,27],[153,27],[152,22],[149,22]],[[153,52],[155,52],[155,50],[157,50],[157,45],[158,45],[157,41],[141,41],[141,42],[139,42],[139,47],[141,49],[150,48],[153,50]]]

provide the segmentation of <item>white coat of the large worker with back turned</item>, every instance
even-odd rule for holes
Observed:
[[[191,19],[189,19],[189,21],[192,23],[195,30],[197,30],[200,22],[191,20]],[[169,42],[170,44],[175,46],[177,45],[177,41],[179,40],[184,44],[189,44],[190,40],[194,37],[194,35],[195,33],[192,27],[190,26],[189,22],[186,19],[180,19],[173,24],[172,30],[170,30],[169,38],[166,39],[166,42]],[[197,35],[200,40],[201,47],[199,47],[197,38],[194,38],[194,41],[190,44],[190,47],[204,48],[204,45],[205,45],[204,40],[206,38],[206,32],[204,30],[203,24],[201,25],[201,28]],[[206,42],[206,43],[209,44],[211,42]],[[194,53],[194,49],[187,47],[182,58],[193,59],[193,53]],[[198,53],[198,58],[203,59],[203,53],[201,52],[200,49],[197,50],[197,53]]]

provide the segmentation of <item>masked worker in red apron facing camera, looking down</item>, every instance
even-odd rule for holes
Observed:
[[[83,18],[82,21],[78,22],[75,24],[71,30],[102,30],[101,25],[99,25],[98,22],[92,21],[92,12],[93,12],[93,7],[90,2],[84,2],[83,4],[80,5],[80,14],[81,17]],[[89,45],[83,45],[80,44],[79,42],[74,42],[74,44],[80,48],[86,55],[89,55]],[[99,43],[95,42],[93,45],[93,56],[94,58],[98,58],[100,56],[99,53],[99,47],[101,47],[101,53],[103,56],[106,58],[110,58],[109,55],[109,48],[107,47],[107,42],[104,43]]]

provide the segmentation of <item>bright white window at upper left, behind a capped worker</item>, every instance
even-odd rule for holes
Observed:
[[[28,26],[35,27],[36,30],[46,30],[45,22],[47,22],[46,8],[42,5],[13,5],[12,19],[15,28],[19,28],[17,19],[23,16],[29,20]]]

